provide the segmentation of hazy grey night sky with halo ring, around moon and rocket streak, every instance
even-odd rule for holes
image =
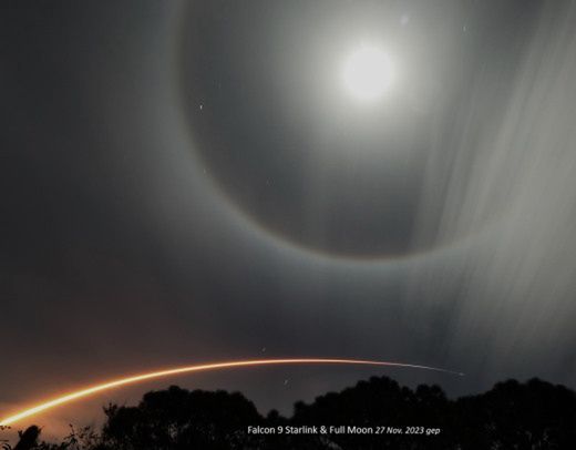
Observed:
[[[366,43],[369,103],[341,80]],[[12,1],[0,57],[2,415],[253,357],[466,376],[243,369],[34,421],[169,383],[261,412],[371,375],[576,387],[573,2]]]

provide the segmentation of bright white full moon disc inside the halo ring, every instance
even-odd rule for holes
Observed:
[[[379,100],[390,86],[392,70],[388,55],[380,49],[362,45],[343,64],[348,92],[362,102]]]

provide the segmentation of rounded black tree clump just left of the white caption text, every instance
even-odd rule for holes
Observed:
[[[146,393],[137,407],[110,406],[105,415],[103,442],[122,450],[245,448],[247,427],[264,420],[238,392],[176,386]]]

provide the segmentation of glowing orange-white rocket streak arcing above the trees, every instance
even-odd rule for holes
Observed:
[[[169,377],[173,375],[188,374],[188,372],[198,372],[205,370],[219,370],[219,369],[233,369],[237,367],[251,367],[251,366],[274,366],[274,365],[357,365],[357,366],[384,366],[384,367],[402,367],[402,368],[412,368],[412,369],[422,369],[422,370],[433,370],[445,374],[459,375],[463,376],[464,374],[455,372],[452,370],[440,369],[436,367],[429,366],[419,366],[412,364],[403,364],[403,362],[389,362],[389,361],[371,361],[371,360],[362,360],[362,359],[329,359],[329,358],[290,358],[290,359],[248,359],[248,360],[239,360],[239,361],[226,361],[226,362],[215,362],[215,364],[205,364],[205,365],[196,365],[196,366],[186,366],[186,367],[177,367],[173,369],[146,372],[134,375],[131,377],[119,378],[115,380],[102,382],[99,385],[93,385],[84,389],[80,389],[73,392],[69,392],[61,397],[56,397],[54,399],[48,400],[45,402],[41,402],[31,408],[24,409],[13,416],[4,417],[0,420],[0,427],[7,427],[9,425],[16,423],[22,419],[35,416],[40,412],[43,412],[48,409],[55,408],[61,405],[69,403],[74,400],[82,399],[84,397],[89,397],[93,393],[97,393],[101,391],[105,391],[113,388],[119,388],[125,385],[133,385],[141,381],[152,380],[155,378]]]

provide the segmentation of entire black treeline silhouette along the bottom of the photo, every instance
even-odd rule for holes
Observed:
[[[290,418],[274,410],[264,417],[238,392],[173,386],[146,393],[137,406],[110,405],[104,412],[100,430],[72,430],[62,442],[47,443],[40,442],[41,430],[30,427],[20,432],[13,448],[4,446],[13,450],[576,449],[576,393],[538,379],[504,381],[484,393],[452,400],[438,386],[409,389],[374,377],[310,405],[297,402]],[[248,427],[258,426],[276,434],[248,432]],[[371,427],[374,434],[286,433],[289,427],[302,426],[344,426],[346,431],[348,426]],[[384,427],[380,434],[378,427]]]

